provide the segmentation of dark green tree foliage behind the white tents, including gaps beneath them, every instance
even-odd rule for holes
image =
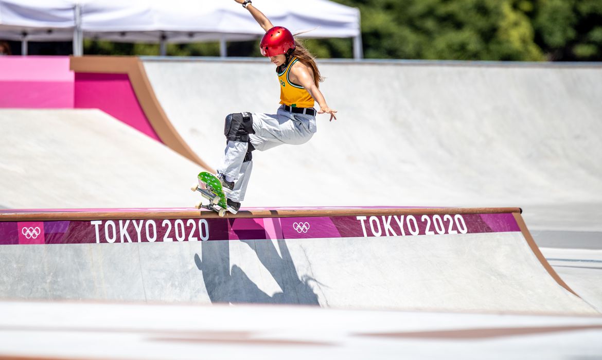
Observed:
[[[601,61],[602,0],[334,0],[357,7],[366,58]],[[319,58],[353,57],[351,39],[308,39]],[[88,41],[86,54],[158,55],[157,44]],[[219,44],[169,45],[168,55],[218,56]],[[229,56],[261,56],[259,40]]]

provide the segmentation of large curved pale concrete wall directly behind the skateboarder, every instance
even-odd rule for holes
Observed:
[[[175,128],[213,167],[227,114],[278,108],[264,59],[151,58],[144,68]],[[521,206],[534,229],[601,231],[601,69],[320,61],[340,120],[318,116],[308,143],[255,152],[244,205]],[[385,190],[364,185],[372,181]],[[307,196],[321,182],[335,191]]]

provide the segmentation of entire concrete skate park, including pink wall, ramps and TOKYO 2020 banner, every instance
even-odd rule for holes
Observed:
[[[339,120],[220,218],[271,66],[53,60],[0,72],[0,358],[602,354],[600,66],[322,61]]]

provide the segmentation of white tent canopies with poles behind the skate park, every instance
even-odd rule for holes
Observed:
[[[361,57],[359,10],[327,0],[255,0],[274,25],[305,37],[350,37]],[[0,0],[0,38],[74,42],[83,37],[116,42],[225,42],[264,33],[249,11],[232,0]],[[163,47],[164,48],[164,47]],[[81,53],[80,53],[81,54]]]

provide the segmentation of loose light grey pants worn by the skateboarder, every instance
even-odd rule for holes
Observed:
[[[249,141],[258,151],[266,151],[282,144],[306,143],[316,131],[315,116],[293,114],[285,111],[283,107],[280,107],[275,115],[252,116],[255,134],[249,134]],[[234,191],[228,194],[228,198],[236,202],[244,200],[253,169],[253,161],[244,161],[247,149],[249,143],[228,141],[222,163],[217,168],[220,173],[234,178]]]

